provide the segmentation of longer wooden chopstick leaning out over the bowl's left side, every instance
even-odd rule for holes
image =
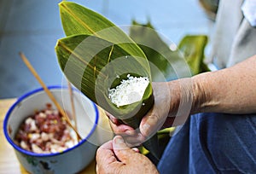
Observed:
[[[56,101],[55,96],[52,95],[52,93],[49,91],[47,86],[44,84],[43,80],[39,77],[39,75],[36,72],[36,70],[32,67],[30,62],[26,59],[26,56],[23,53],[21,53],[21,52],[19,53],[19,55],[20,55],[22,61],[24,61],[24,63],[26,64],[26,67],[28,67],[28,69],[32,72],[32,74],[35,76],[35,78],[37,78],[39,84],[41,84],[41,86],[44,88],[44,91],[49,96],[51,101],[55,103],[55,106],[57,107],[57,109],[59,110],[61,115],[64,117],[64,119],[67,121],[67,124],[70,127],[72,127],[73,131],[76,132],[77,136],[79,137],[79,140],[82,140],[82,137],[79,135],[79,132],[73,127],[73,125],[72,125],[70,119],[68,118],[67,114],[64,112],[64,110],[62,109],[61,105]]]

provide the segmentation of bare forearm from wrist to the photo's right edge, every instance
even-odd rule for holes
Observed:
[[[234,67],[192,78],[192,113],[256,113],[256,55]]]

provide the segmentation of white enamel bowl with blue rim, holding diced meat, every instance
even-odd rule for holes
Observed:
[[[50,86],[49,90],[55,96],[65,111],[72,113],[69,91],[65,87]],[[6,139],[15,149],[17,159],[26,171],[31,173],[77,173],[95,159],[96,127],[99,120],[99,111],[94,102],[91,102],[79,90],[73,90],[77,127],[83,139],[73,148],[55,154],[35,154],[20,148],[15,144],[15,134],[20,124],[35,110],[42,110],[46,103],[51,103],[49,96],[43,89],[33,90],[21,96],[12,107],[3,121],[3,131]]]

